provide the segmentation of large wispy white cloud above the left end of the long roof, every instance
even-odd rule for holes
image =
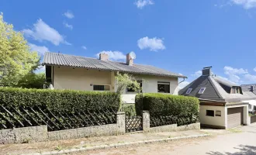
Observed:
[[[60,43],[71,45],[71,43],[64,40],[64,36],[61,36],[57,30],[48,26],[47,23],[43,22],[42,19],[38,19],[36,23],[33,24],[33,29],[23,29],[23,32],[25,36],[32,37],[33,40],[38,40],[40,42],[46,40],[56,46]]]

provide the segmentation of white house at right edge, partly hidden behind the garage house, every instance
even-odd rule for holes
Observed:
[[[242,84],[241,88],[247,95],[256,96],[256,84]],[[249,112],[256,112],[256,100],[249,102]]]

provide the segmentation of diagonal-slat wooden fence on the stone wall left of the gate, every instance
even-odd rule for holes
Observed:
[[[48,131],[102,126],[116,123],[116,112],[109,109],[59,112],[47,107],[19,107],[0,105],[0,129],[47,125]]]

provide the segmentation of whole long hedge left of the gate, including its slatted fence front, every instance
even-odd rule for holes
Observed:
[[[0,88],[0,129],[50,131],[116,123],[120,95],[99,91]]]

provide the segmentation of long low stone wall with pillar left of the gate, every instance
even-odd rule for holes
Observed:
[[[47,126],[31,126],[0,130],[0,144],[29,143],[47,140],[67,140],[88,136],[112,136],[126,133],[125,113],[116,114],[116,124],[90,126],[77,129],[64,129],[47,132]]]

